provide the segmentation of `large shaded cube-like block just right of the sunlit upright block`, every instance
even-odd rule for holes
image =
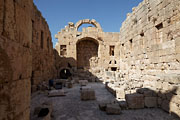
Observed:
[[[144,96],[142,94],[127,94],[125,99],[128,105],[128,108],[140,109],[144,108]]]

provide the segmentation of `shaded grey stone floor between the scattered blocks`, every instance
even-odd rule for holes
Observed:
[[[46,92],[36,92],[32,95],[31,118],[33,118],[34,108],[44,102],[52,103],[52,120],[179,120],[170,116],[161,109],[139,109],[122,110],[120,115],[107,115],[100,111],[98,103],[104,100],[116,101],[102,83],[89,83],[96,93],[96,100],[81,101],[80,85],[73,88],[63,88],[66,96],[47,97]]]

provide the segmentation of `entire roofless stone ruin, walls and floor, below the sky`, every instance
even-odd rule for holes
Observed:
[[[144,0],[120,32],[102,28],[69,22],[53,49],[32,0],[0,0],[0,120],[180,119],[180,1]]]

